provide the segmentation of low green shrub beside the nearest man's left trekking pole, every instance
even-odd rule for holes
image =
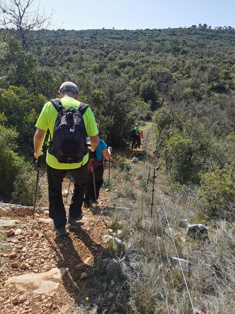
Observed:
[[[13,200],[23,206],[34,204],[37,172],[29,162],[24,163],[14,182]],[[38,186],[37,199],[42,197],[41,188]]]

